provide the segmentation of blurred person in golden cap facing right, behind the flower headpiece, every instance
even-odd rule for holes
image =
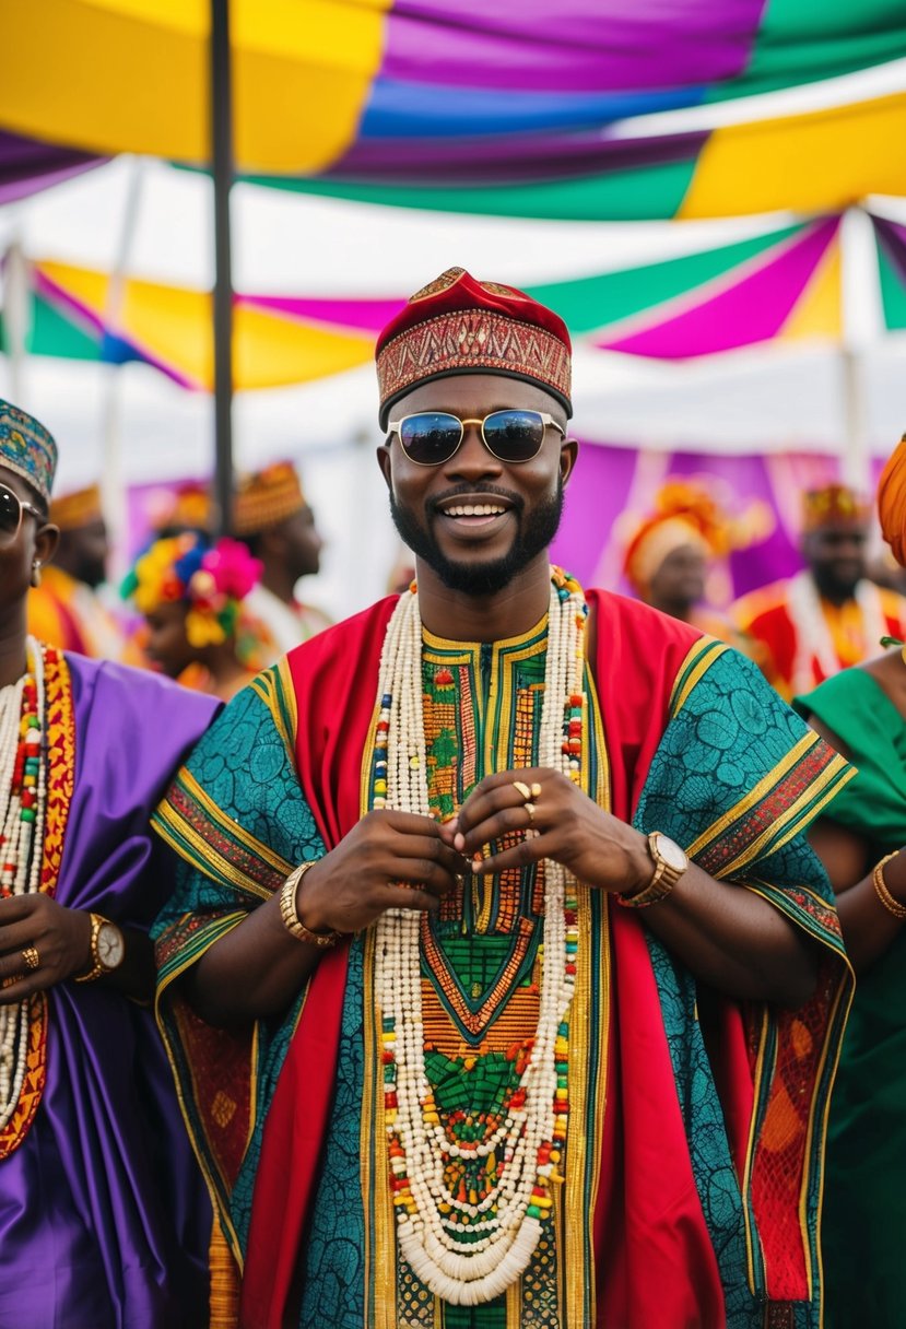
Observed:
[[[329,626],[320,609],[296,597],[299,581],[317,575],[324,542],[292,462],[274,462],[239,481],[234,530],[262,565],[246,609],[262,625],[259,654],[270,664]]]

